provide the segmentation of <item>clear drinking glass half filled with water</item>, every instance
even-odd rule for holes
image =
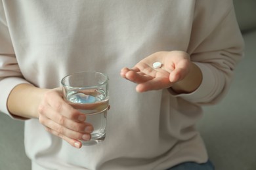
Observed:
[[[95,71],[84,71],[65,76],[61,80],[64,99],[84,114],[86,122],[93,125],[90,141],[83,145],[93,145],[106,137],[108,111],[108,76]]]

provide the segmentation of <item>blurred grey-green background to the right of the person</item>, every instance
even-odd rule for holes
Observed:
[[[234,0],[245,58],[226,97],[198,124],[216,170],[256,169],[256,0]]]

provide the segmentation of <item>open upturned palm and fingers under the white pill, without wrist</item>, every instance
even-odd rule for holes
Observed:
[[[155,69],[154,62],[162,63]],[[120,75],[137,85],[137,92],[160,90],[182,80],[190,70],[190,57],[186,52],[156,52],[137,63],[133,68],[121,69]]]

